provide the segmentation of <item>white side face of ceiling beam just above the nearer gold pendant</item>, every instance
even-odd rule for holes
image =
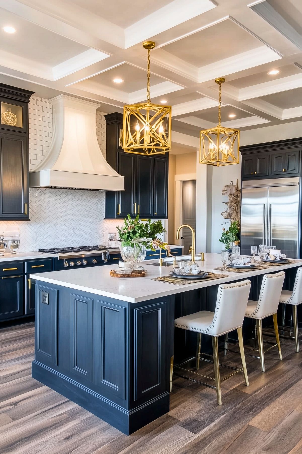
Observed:
[[[174,0],[127,27],[125,29],[125,49],[215,7],[216,5],[210,0]],[[135,11],[133,14],[135,15]]]

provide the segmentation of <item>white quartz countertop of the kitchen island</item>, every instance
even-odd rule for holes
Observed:
[[[190,256],[182,256],[190,257]],[[179,257],[181,258],[181,257]],[[139,302],[147,301],[184,291],[194,290],[197,288],[213,286],[225,282],[247,279],[250,276],[257,276],[267,272],[278,272],[295,266],[302,266],[302,260],[296,260],[294,263],[283,264],[280,266],[268,266],[263,270],[254,270],[246,272],[228,272],[214,270],[217,266],[222,266],[220,254],[205,254],[205,261],[199,261],[199,266],[203,271],[211,271],[218,274],[226,274],[227,277],[215,279],[212,281],[200,281],[195,284],[187,283],[182,286],[168,284],[166,282],[152,281],[153,277],[167,276],[173,270],[173,266],[153,266],[144,263],[146,275],[144,277],[111,277],[109,274],[112,265],[102,265],[93,268],[81,268],[64,271],[52,271],[41,274],[31,274],[30,277],[38,281],[48,282],[58,286],[73,288],[79,291],[86,291],[117,300]]]

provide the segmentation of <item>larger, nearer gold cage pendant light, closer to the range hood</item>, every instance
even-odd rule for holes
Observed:
[[[123,148],[126,153],[153,155],[171,150],[171,106],[150,103],[150,50],[148,49],[147,102],[124,106]]]

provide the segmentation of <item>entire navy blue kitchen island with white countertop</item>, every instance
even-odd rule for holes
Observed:
[[[112,265],[32,274],[35,285],[33,377],[125,434],[169,411],[171,358],[196,348],[196,333],[175,330],[174,318],[214,310],[218,285],[251,279],[258,299],[262,275],[284,270],[292,288],[302,260],[246,272],[216,271],[219,254],[201,269],[225,274],[182,286],[153,281],[172,266],[144,264],[142,278],[113,278]],[[195,336],[195,337],[194,337]]]

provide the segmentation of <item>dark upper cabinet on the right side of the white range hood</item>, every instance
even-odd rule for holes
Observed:
[[[167,218],[168,153],[145,156],[121,149],[123,115],[106,118],[106,160],[124,178],[125,191],[105,193],[105,218],[139,214],[144,218]]]

